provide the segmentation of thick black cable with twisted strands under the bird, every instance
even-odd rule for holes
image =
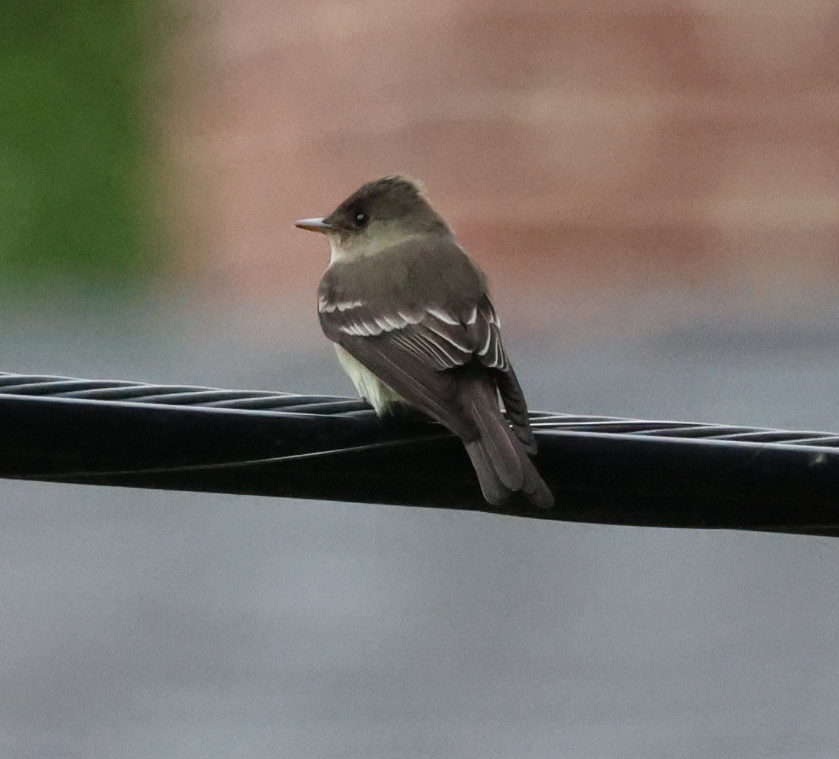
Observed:
[[[0,476],[659,527],[839,534],[839,434],[531,413],[548,512],[483,501],[419,414],[348,398],[0,373]]]

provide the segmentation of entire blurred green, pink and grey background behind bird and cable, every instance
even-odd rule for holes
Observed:
[[[350,394],[292,224],[399,171],[487,270],[531,407],[839,429],[835,3],[0,28],[0,371]],[[0,522],[3,756],[839,748],[828,538],[13,481]]]

